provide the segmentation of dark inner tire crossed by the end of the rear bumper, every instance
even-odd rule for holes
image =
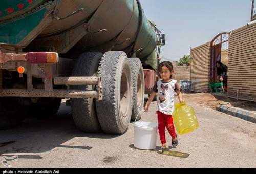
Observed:
[[[73,76],[96,76],[102,53],[86,52],[81,54],[73,68]],[[94,85],[73,85],[71,89],[94,90]],[[75,125],[83,132],[100,132],[95,99],[72,98],[70,99],[72,115]]]

